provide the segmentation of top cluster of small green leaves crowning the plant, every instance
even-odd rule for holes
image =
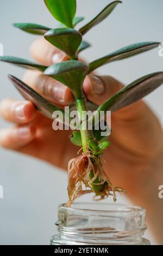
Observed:
[[[45,0],[47,8],[52,13],[52,15],[64,24],[68,28],[73,28],[80,21],[83,20],[83,17],[74,17],[76,14],[76,0]],[[93,26],[97,25],[99,22],[103,21],[112,10],[116,7],[121,1],[114,1],[108,4],[99,14],[95,16],[89,23],[84,27],[80,28],[79,32],[75,30],[60,30],[51,29],[42,25],[37,25],[34,23],[15,23],[14,26],[22,29],[28,33],[32,34],[45,34],[45,38],[52,43],[54,46],[58,47],[61,51],[64,51],[70,58],[75,59],[77,50],[78,52],[90,45],[82,41],[82,34],[85,34]],[[80,48],[78,49],[80,45]],[[91,69],[90,69],[91,70]]]

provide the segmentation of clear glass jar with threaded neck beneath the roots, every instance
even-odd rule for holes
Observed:
[[[145,209],[107,203],[73,203],[58,207],[58,235],[51,245],[150,245],[143,238]]]

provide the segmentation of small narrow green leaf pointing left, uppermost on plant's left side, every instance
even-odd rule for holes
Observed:
[[[37,35],[43,35],[45,34],[49,29],[48,27],[38,25],[35,23],[14,23],[14,27],[20,28],[23,31],[30,33],[30,34],[37,34]]]

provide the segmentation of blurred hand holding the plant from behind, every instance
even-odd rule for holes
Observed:
[[[30,48],[36,61],[47,66],[67,57],[44,39],[36,40]],[[71,91],[40,72],[28,71],[24,82],[58,105],[72,103]],[[110,76],[90,75],[84,81],[86,97],[102,104],[123,87]],[[78,147],[71,144],[71,131],[52,129],[52,120],[42,116],[27,101],[4,99],[1,116],[16,125],[0,132],[0,145],[46,160],[67,169],[68,160],[77,156]],[[130,199],[143,202],[144,184],[152,182],[154,163],[162,161],[163,136],[159,121],[148,106],[140,100],[112,114],[111,142],[105,151],[104,170],[115,186],[127,190]],[[162,175],[163,176],[163,175]],[[151,178],[149,178],[151,177]],[[148,181],[148,182],[147,182]],[[149,185],[150,186],[150,185]],[[146,197],[151,189],[146,185]],[[145,203],[146,204],[146,203]]]

